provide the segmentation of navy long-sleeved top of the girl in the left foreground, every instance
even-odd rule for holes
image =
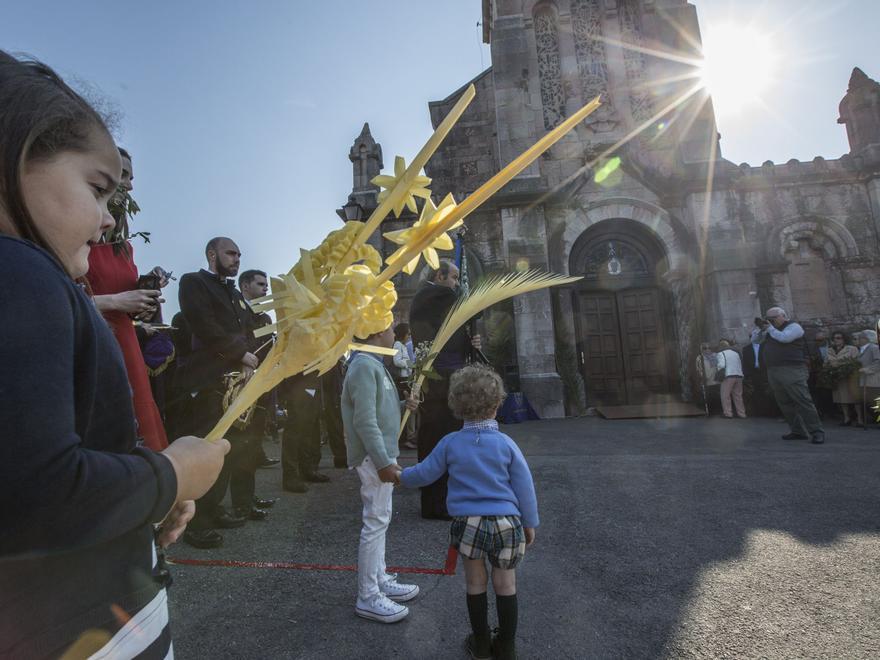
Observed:
[[[122,625],[115,605],[158,617],[138,652],[164,658],[152,523],[177,480],[168,459],[136,446],[119,344],[46,252],[7,236],[0,308],[0,657],[57,658],[92,629],[109,638]]]

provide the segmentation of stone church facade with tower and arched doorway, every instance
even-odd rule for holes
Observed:
[[[736,165],[692,65],[651,54],[697,56],[696,8],[684,0],[483,0],[483,30],[492,66],[471,81],[476,98],[426,167],[438,199],[466,196],[603,99],[466,223],[471,281],[527,267],[583,276],[484,319],[490,344],[511,344],[500,366],[542,416],[693,400],[700,343],[745,343],[773,305],[808,333],[874,325],[877,82],[854,69],[840,102],[848,154]],[[434,126],[463,90],[429,104]],[[368,213],[382,168],[368,126],[350,159],[350,204]],[[396,284],[404,320],[417,277]]]

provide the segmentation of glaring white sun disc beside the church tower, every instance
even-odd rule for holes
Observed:
[[[733,24],[707,31],[703,56],[700,80],[719,114],[737,114],[760,101],[773,83],[778,60],[768,35]]]

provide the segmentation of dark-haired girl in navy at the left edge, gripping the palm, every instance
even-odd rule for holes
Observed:
[[[122,163],[51,69],[0,51],[0,657],[171,657],[173,543],[229,444],[136,446],[119,346],[77,285]]]

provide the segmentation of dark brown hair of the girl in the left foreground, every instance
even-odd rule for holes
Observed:
[[[0,206],[20,238],[58,255],[34,223],[21,190],[25,163],[85,151],[104,121],[51,68],[0,50]]]

